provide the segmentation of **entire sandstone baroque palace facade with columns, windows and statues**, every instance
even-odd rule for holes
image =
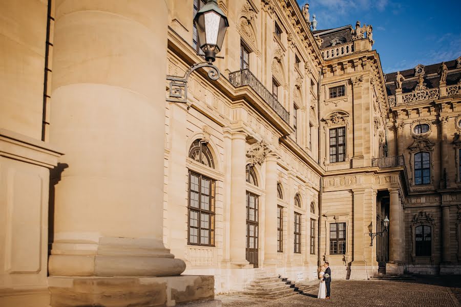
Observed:
[[[384,74],[370,25],[217,2],[221,77],[186,103],[166,75],[203,62],[203,1],[0,4],[2,305],[461,273],[461,58]]]

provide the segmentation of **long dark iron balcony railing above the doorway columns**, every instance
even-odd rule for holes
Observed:
[[[286,123],[289,123],[290,113],[248,69],[230,73],[229,81],[235,87],[249,85]]]

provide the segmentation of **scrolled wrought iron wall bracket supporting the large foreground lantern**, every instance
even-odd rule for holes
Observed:
[[[218,80],[221,76],[219,69],[212,64],[212,61],[196,63],[185,73],[183,77],[166,76],[166,80],[170,80],[170,95],[166,101],[186,103],[187,102],[187,80],[193,71],[199,68],[208,67],[208,78],[211,80]]]

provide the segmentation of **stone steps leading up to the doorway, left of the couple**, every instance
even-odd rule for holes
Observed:
[[[277,275],[264,269],[255,269],[255,279],[248,283],[247,286],[239,294],[264,297],[264,298],[279,298],[294,294],[302,294],[307,291],[312,285],[303,283],[294,283],[287,278]]]

